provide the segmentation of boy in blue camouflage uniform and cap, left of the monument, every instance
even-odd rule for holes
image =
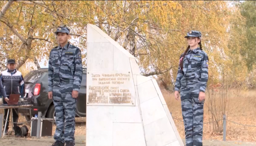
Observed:
[[[48,98],[53,98],[57,126],[53,146],[65,142],[74,146],[76,98],[83,74],[81,51],[68,42],[67,27],[59,27],[55,34],[59,45],[51,50],[48,62]]]

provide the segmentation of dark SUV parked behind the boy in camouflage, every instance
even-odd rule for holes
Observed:
[[[43,117],[54,118],[55,109],[53,99],[48,99],[48,68],[41,68],[29,72],[24,76],[25,96],[24,102],[33,105],[28,109],[19,109],[19,113],[24,115],[27,121],[31,120],[30,116],[35,116],[38,111],[42,112]],[[86,69],[83,68],[83,79],[77,97],[76,117],[86,116]]]

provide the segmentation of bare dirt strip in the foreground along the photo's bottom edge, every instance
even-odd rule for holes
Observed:
[[[40,139],[35,138],[14,138],[6,136],[0,139],[1,146],[51,146],[54,142],[53,137],[45,137]],[[183,140],[184,144],[185,141]],[[76,146],[85,146],[85,135],[78,135],[75,137]],[[203,140],[204,146],[256,146],[254,142],[239,142],[239,141],[216,141]]]

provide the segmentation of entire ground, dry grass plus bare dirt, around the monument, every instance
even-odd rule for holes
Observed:
[[[181,113],[181,103],[176,101],[173,97],[173,93],[169,93],[161,88],[162,94],[168,105],[170,112],[172,112],[172,117],[174,119],[175,126],[180,133],[181,138],[185,144],[184,135],[184,124],[182,122]],[[216,95],[221,96],[216,92]],[[241,91],[237,93],[234,90],[230,90],[227,99],[226,115],[228,117],[227,121],[227,141],[222,141],[223,133],[222,130],[216,130],[218,125],[207,124],[207,122],[212,121],[212,114],[209,112],[209,95],[206,95],[205,106],[204,106],[204,128],[203,128],[203,145],[204,146],[256,146],[256,126],[246,126],[246,125],[256,125],[256,90],[251,91]],[[216,97],[216,114],[219,119],[222,118],[222,104],[218,101],[222,101],[222,98]],[[241,100],[242,99],[242,100]],[[211,106],[211,105],[210,105]],[[0,109],[0,113],[3,111]],[[76,118],[76,145],[75,146],[85,146],[86,137],[86,118],[80,117]],[[23,116],[19,116],[19,123],[26,122]],[[236,123],[232,123],[236,122]],[[221,124],[219,121],[218,124]],[[26,123],[30,131],[30,126]],[[10,126],[10,125],[9,125]],[[213,130],[213,126],[215,130]],[[9,127],[10,128],[10,127]],[[56,126],[53,126],[52,133]],[[30,134],[30,133],[29,133]],[[53,136],[52,134],[52,136]],[[13,134],[6,135],[4,139],[0,139],[0,146],[51,146],[54,142],[53,137],[35,139],[35,138],[15,138]]]

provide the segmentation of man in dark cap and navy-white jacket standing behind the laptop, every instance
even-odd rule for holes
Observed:
[[[3,99],[4,104],[8,104],[10,94],[20,94],[20,98],[22,98],[22,99],[25,95],[23,76],[22,76],[21,72],[19,72],[15,69],[15,67],[16,67],[15,60],[9,59],[7,67],[8,67],[8,69],[5,71],[2,71],[2,73],[0,75],[0,79],[2,81],[3,87],[6,92],[6,97],[4,97],[4,99]],[[6,129],[4,131],[5,134],[8,132],[8,129],[9,129],[8,121],[10,119],[10,115],[7,117],[7,113],[8,113],[8,109],[4,109],[3,125],[5,125],[5,120],[7,118]],[[18,109],[12,109],[12,113],[13,113],[13,122],[15,122],[13,124],[13,126],[16,127],[17,126],[16,123],[19,118]],[[14,127],[13,127],[13,130],[15,130]]]

